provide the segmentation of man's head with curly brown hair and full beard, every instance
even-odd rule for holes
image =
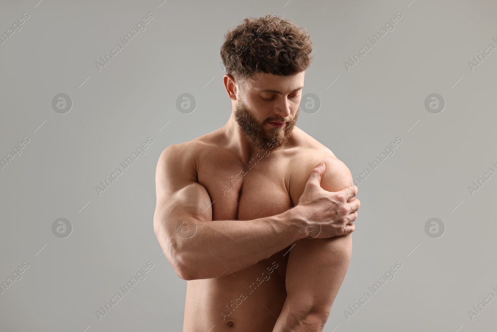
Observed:
[[[278,149],[298,118],[305,70],[312,60],[310,36],[291,21],[266,15],[245,18],[225,37],[221,57],[234,117],[255,147]]]

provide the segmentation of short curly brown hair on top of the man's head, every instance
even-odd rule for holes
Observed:
[[[247,17],[228,29],[221,46],[226,73],[244,83],[256,73],[292,75],[306,70],[313,59],[306,28],[279,16]]]

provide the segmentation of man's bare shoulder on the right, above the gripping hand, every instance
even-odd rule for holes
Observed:
[[[328,147],[302,130],[299,132],[297,143],[293,148],[290,163],[290,194],[294,204],[297,204],[311,172],[320,162],[325,163],[326,167],[321,179],[323,189],[335,192],[353,185],[350,170]]]

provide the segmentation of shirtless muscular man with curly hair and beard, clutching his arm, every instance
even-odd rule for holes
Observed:
[[[348,168],[295,126],[311,51],[294,23],[246,18],[221,48],[228,122],[159,158],[154,230],[188,280],[184,332],[323,331],[360,203]]]

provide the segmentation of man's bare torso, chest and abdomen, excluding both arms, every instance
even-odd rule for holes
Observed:
[[[255,153],[247,163],[215,133],[188,143],[195,149],[198,183],[214,202],[213,220],[253,220],[285,212],[297,204],[319,158],[333,155],[297,127],[289,147]],[[286,299],[289,249],[234,275],[189,280],[183,331],[207,332],[215,326],[210,332],[271,332]]]

